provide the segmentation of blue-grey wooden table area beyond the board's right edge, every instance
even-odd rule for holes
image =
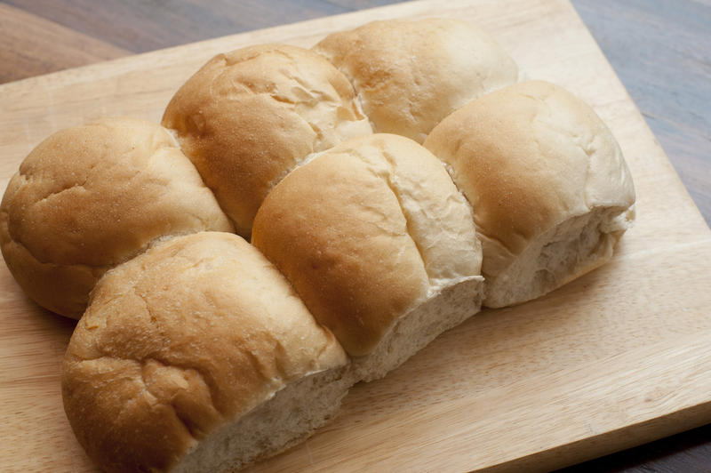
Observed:
[[[711,223],[711,3],[572,4]]]

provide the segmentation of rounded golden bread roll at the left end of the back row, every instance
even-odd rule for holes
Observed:
[[[105,118],[54,133],[20,164],[0,205],[0,247],[39,305],[81,317],[101,275],[158,238],[232,231],[161,126]]]

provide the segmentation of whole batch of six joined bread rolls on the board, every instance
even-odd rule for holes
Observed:
[[[389,20],[220,54],[162,125],[54,133],[4,193],[0,244],[79,319],[64,406],[101,469],[228,471],[482,304],[608,261],[634,201],[592,108],[464,22]]]

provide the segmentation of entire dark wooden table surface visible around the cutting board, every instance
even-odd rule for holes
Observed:
[[[0,83],[390,0],[0,0]],[[572,0],[711,222],[711,3]],[[711,426],[571,471],[711,471]]]

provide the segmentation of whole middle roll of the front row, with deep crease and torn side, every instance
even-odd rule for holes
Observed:
[[[348,140],[282,180],[252,243],[281,269],[348,354],[378,378],[480,307],[471,209],[412,140]]]

